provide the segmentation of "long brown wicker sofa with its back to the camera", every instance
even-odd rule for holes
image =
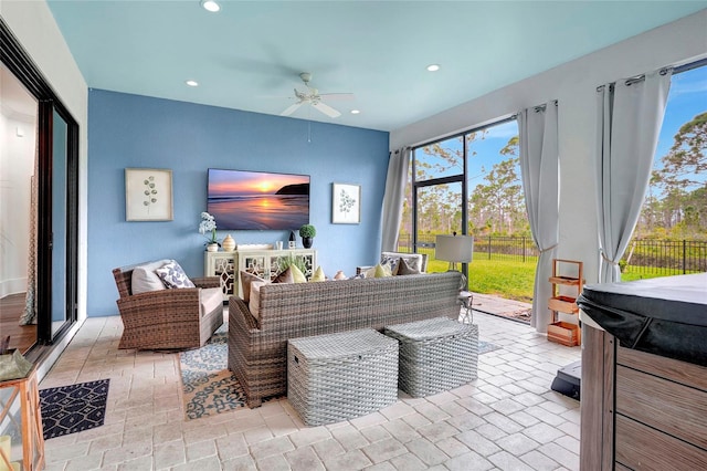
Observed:
[[[260,320],[238,296],[229,301],[229,369],[249,407],[287,393],[287,339],[460,315],[461,273],[267,284]]]

